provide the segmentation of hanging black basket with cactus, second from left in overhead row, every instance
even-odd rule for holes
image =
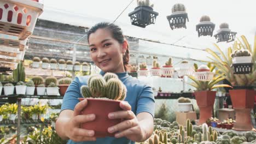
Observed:
[[[186,21],[189,21],[189,19],[184,4],[174,4],[172,14],[166,17],[172,30],[176,28],[187,28]]]

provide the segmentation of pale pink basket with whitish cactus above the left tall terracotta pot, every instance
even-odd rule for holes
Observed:
[[[195,72],[195,77],[199,81],[211,81],[213,76],[214,73],[210,71],[207,65],[200,65],[200,67]]]

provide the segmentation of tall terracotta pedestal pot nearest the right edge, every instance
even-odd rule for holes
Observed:
[[[254,106],[253,89],[233,89],[229,90],[232,105],[236,111],[236,123],[234,130],[252,130],[251,109]]]

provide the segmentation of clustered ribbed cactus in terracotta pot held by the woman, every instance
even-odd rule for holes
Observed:
[[[119,104],[126,98],[126,91],[125,85],[114,73],[106,73],[103,77],[92,75],[88,86],[82,86],[80,92],[88,100],[83,114],[95,113],[97,117],[95,121],[82,124],[82,128],[94,130],[96,137],[114,136],[107,129],[120,123],[121,119],[109,119],[107,115],[121,110]]]

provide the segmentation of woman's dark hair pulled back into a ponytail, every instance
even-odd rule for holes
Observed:
[[[90,30],[88,31],[88,37],[87,37],[88,43],[89,43],[90,34],[95,33],[100,28],[108,29],[112,33],[112,37],[115,40],[117,40],[119,44],[124,43],[125,38],[124,38],[122,29],[119,26],[114,25],[114,23],[109,23],[109,22],[101,22],[101,23],[97,23],[96,25],[92,26],[90,28]],[[129,60],[130,60],[129,46],[127,45],[125,55],[123,56],[123,64],[124,64],[125,71],[127,71],[127,69],[130,67]]]

